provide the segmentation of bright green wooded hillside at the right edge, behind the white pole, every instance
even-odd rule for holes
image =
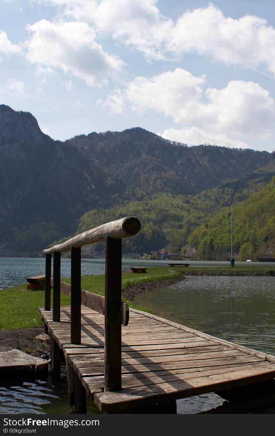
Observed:
[[[238,260],[256,260],[257,255],[275,255],[275,177],[260,191],[232,208],[233,255]],[[223,208],[188,238],[196,257],[223,260],[230,257],[231,208]],[[238,256],[238,257],[237,257]]]

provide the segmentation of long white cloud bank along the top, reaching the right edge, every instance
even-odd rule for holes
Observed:
[[[188,10],[174,23],[157,0],[37,0],[63,7],[64,16],[93,23],[97,31],[132,44],[149,59],[195,53],[227,65],[275,74],[275,29],[260,17],[225,17],[218,7]]]

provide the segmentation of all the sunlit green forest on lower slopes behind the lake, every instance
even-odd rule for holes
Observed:
[[[275,242],[272,230],[268,227],[274,227],[274,225],[272,227],[272,216],[275,216],[275,177],[264,188],[262,188],[262,177],[258,177],[257,180],[257,184],[255,178],[253,184],[249,184],[246,180],[242,188],[238,181],[237,190],[228,187],[233,184],[231,182],[223,187],[203,191],[196,196],[159,194],[152,200],[126,203],[120,201],[112,208],[93,209],[80,218],[76,234],[115,218],[135,215],[141,220],[142,229],[134,238],[123,242],[124,252],[149,254],[151,251],[165,249],[167,252],[180,253],[194,259],[223,260],[230,258],[230,205],[233,204],[234,255],[237,259],[240,251],[241,260],[247,258],[249,253],[251,257],[256,258],[259,251],[272,252],[272,244]],[[241,201],[243,198],[247,200]],[[263,211],[263,216],[257,221],[258,208]],[[265,213],[265,209],[268,213]],[[252,225],[248,218],[244,220],[241,211],[244,216],[246,211],[249,211],[251,220],[255,219],[255,223]],[[257,222],[258,225],[262,225],[261,230],[258,229]],[[256,239],[257,243],[254,242],[252,248],[248,242]],[[269,244],[265,244],[267,240]],[[246,247],[248,247],[247,252],[245,252]],[[102,243],[96,244],[91,247],[90,253],[103,249]]]

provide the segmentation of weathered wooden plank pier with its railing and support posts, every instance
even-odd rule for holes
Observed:
[[[121,222],[129,218],[131,226],[124,235]],[[100,226],[101,237],[107,238],[105,297],[80,289],[84,234],[64,243],[72,250],[71,285],[60,283],[64,244],[45,250],[45,307],[39,310],[50,334],[50,373],[58,375],[60,359],[66,361],[71,412],[86,413],[86,393],[104,413],[176,413],[175,400],[207,392],[231,402],[274,394],[274,356],[129,309],[121,302],[121,237],[138,232],[134,220],[118,220],[111,236],[106,229],[118,221]],[[120,238],[115,239],[117,234]],[[84,238],[85,243],[95,242],[87,242],[87,235]],[[70,306],[60,308],[60,291],[70,295]]]

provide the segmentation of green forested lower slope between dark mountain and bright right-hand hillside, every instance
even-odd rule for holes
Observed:
[[[115,217],[122,218],[134,214],[141,220],[141,232],[123,242],[124,252],[148,253],[165,248],[168,252],[186,254],[188,248],[188,255],[198,255],[197,245],[186,247],[189,235],[201,223],[207,225],[222,208],[237,204],[238,201],[250,198],[253,193],[261,191],[266,180],[270,181],[272,174],[275,175],[275,169],[265,170],[256,171],[243,180],[227,182],[217,188],[202,191],[195,196],[156,194],[152,199],[130,202],[117,198],[117,204],[111,208],[97,208],[84,214],[80,218],[76,234],[111,221]],[[101,244],[92,247],[92,252],[100,247],[104,249]],[[204,252],[200,252],[200,256],[205,257]]]

